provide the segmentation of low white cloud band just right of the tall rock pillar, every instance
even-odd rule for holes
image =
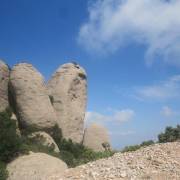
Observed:
[[[131,120],[135,112],[131,109],[114,111],[112,115],[104,115],[98,112],[87,112],[86,123],[92,122],[126,122]]]

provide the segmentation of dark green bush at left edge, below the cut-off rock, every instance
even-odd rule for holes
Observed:
[[[0,161],[9,162],[22,151],[22,140],[16,134],[16,122],[11,111],[0,113]]]

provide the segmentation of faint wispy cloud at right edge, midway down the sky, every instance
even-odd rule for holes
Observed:
[[[139,99],[169,100],[180,97],[180,75],[170,77],[158,84],[138,87],[135,97]]]

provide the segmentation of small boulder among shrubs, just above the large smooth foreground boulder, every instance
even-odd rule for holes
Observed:
[[[35,132],[35,133],[32,133],[31,135],[29,135],[28,137],[31,139],[35,139],[36,141],[38,141],[38,143],[41,143],[44,146],[54,148],[54,151],[56,153],[60,152],[59,148],[58,148],[57,144],[54,142],[53,138],[45,132],[41,132],[41,131]]]

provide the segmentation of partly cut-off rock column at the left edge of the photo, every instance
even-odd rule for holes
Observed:
[[[9,67],[0,60],[0,112],[8,106]]]

